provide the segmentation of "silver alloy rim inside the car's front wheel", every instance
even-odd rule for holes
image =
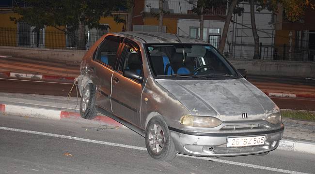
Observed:
[[[164,131],[162,127],[158,124],[153,124],[150,126],[149,131],[149,146],[150,149],[158,154],[163,150],[163,147],[165,145],[165,137],[164,137]]]

